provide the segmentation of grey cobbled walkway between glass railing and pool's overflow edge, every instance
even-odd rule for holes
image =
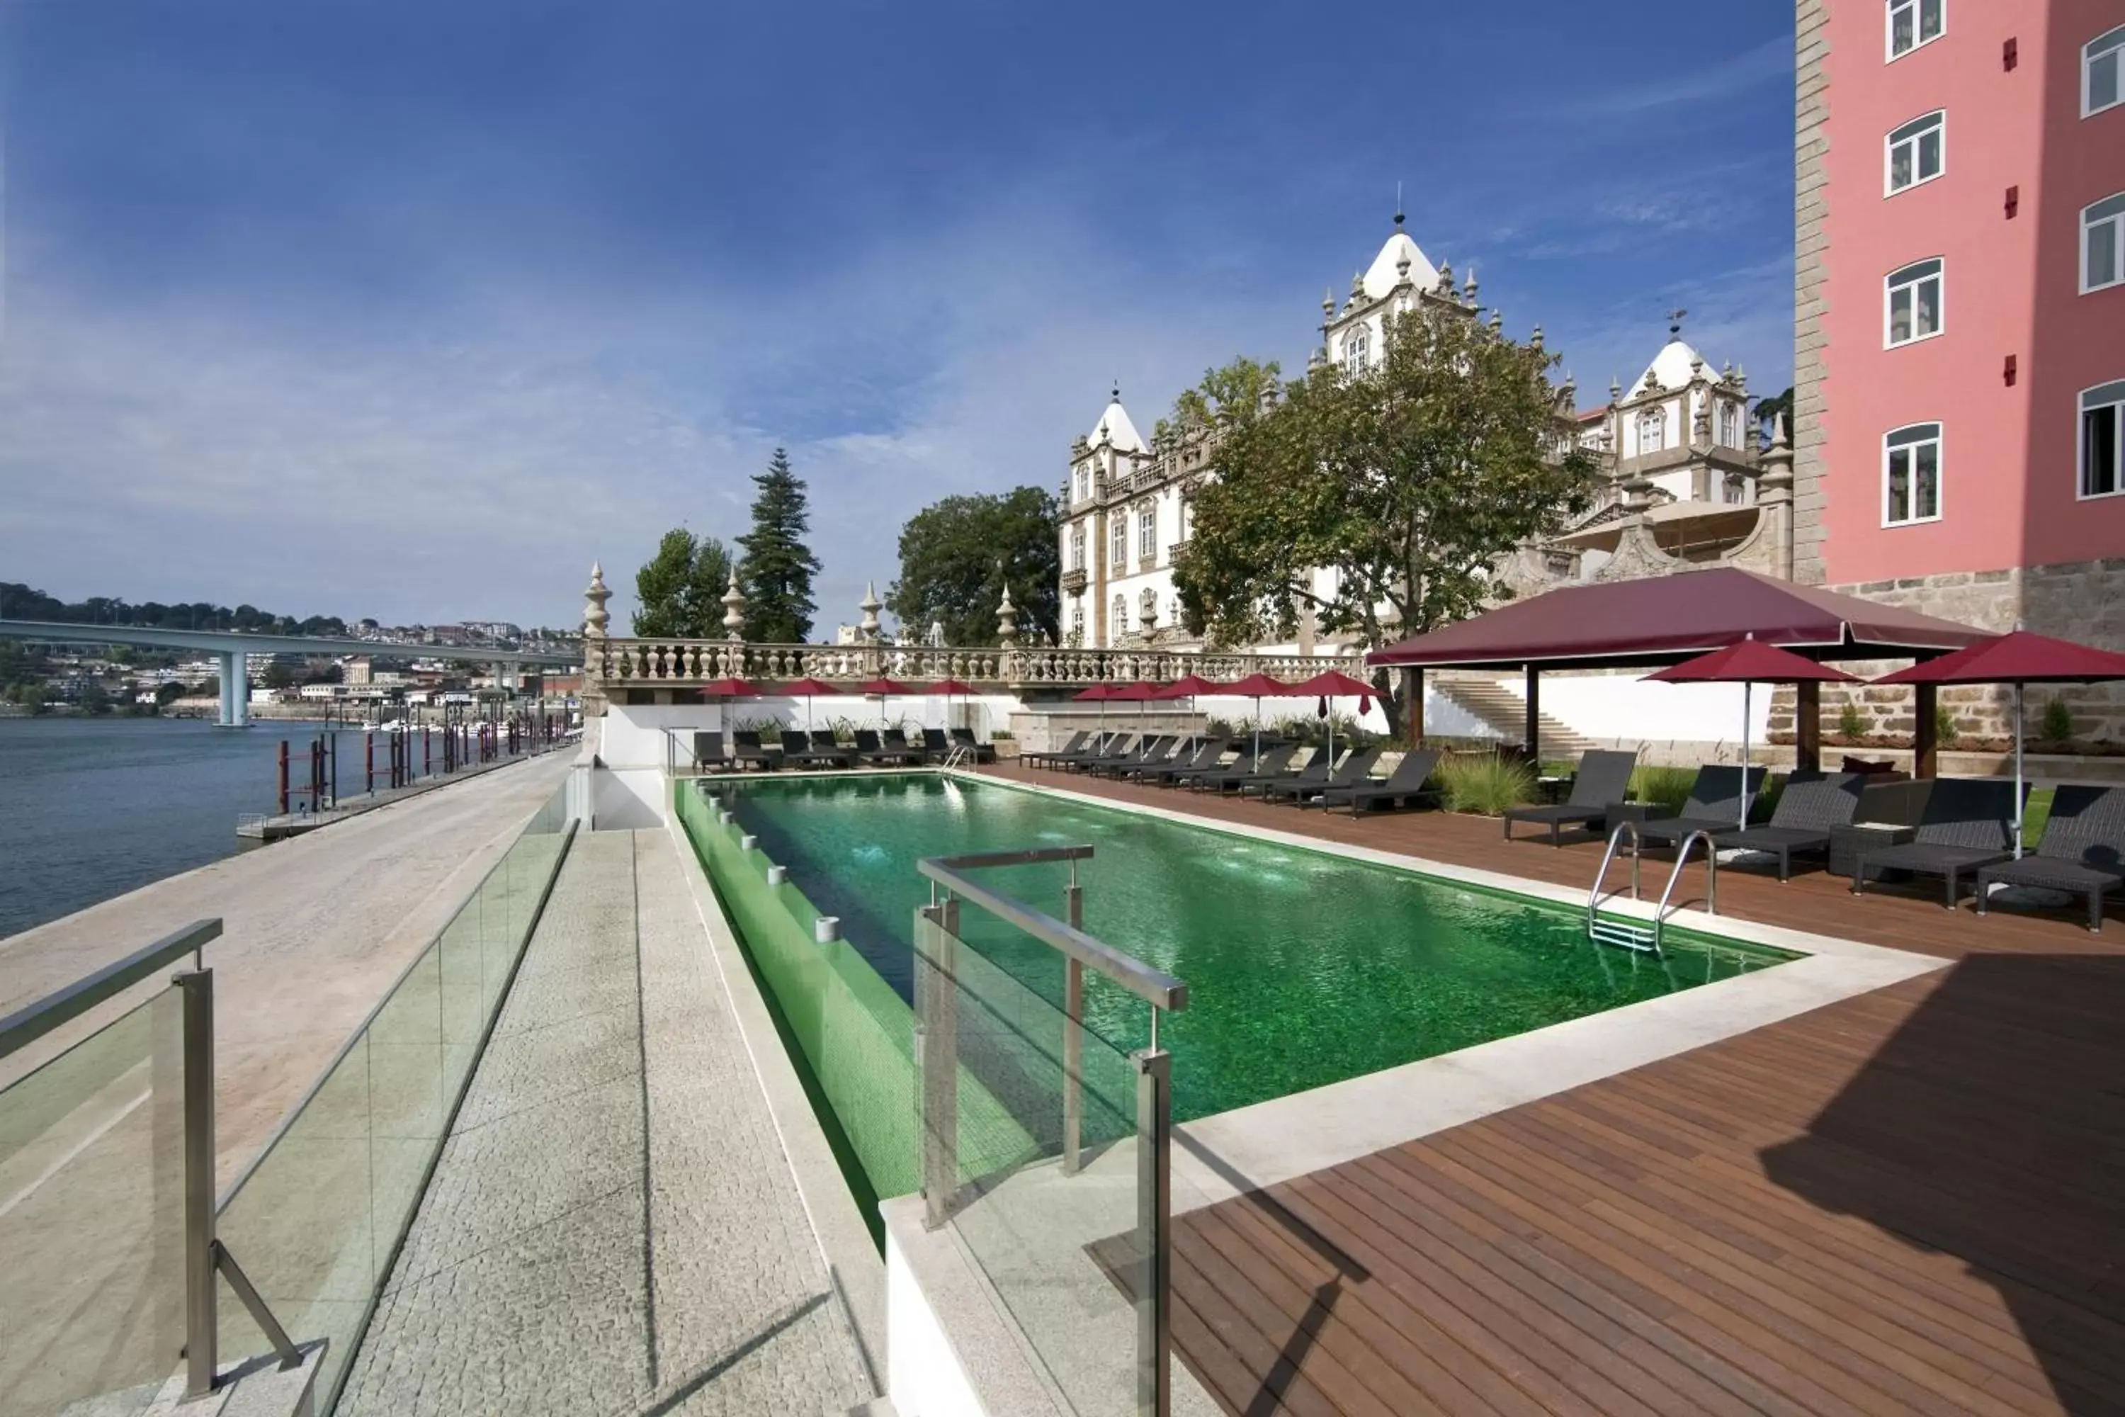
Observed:
[[[340,1413],[871,1396],[682,871],[578,833]]]

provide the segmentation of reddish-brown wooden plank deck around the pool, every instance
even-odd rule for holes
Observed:
[[[1598,843],[1026,782],[1585,886]],[[2125,1413],[2125,926],[1721,873],[1721,914],[1955,960],[1186,1215],[1237,1415]]]

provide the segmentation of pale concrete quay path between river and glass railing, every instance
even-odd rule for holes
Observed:
[[[219,1181],[272,1134],[450,920],[574,754],[480,773],[295,841],[172,875],[0,939],[0,1013],[40,998],[202,916],[223,918],[215,969]],[[6,1086],[149,996],[157,981],[0,1060]]]

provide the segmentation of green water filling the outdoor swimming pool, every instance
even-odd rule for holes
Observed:
[[[931,899],[918,858],[1092,846],[1080,863],[1086,931],[1188,984],[1188,1009],[1160,1024],[1177,1120],[1791,958],[1670,931],[1655,960],[1587,941],[1568,907],[1003,784],[907,773],[716,790],[903,1001],[914,911]],[[1067,871],[1009,867],[984,882],[1060,916]],[[1003,973],[1060,998],[1052,950],[971,907],[960,924]],[[1150,1032],[1148,1005],[1101,979],[1088,979],[1086,1022],[1118,1052]]]

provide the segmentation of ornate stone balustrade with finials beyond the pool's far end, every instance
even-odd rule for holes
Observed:
[[[984,688],[1167,682],[1184,673],[1307,680],[1324,669],[1362,676],[1354,654],[1201,654],[1190,650],[929,648],[895,644],[742,644],[729,639],[584,639],[584,680],[606,690],[688,688],[742,678],[763,684],[816,678],[858,684],[886,676],[965,680]]]

